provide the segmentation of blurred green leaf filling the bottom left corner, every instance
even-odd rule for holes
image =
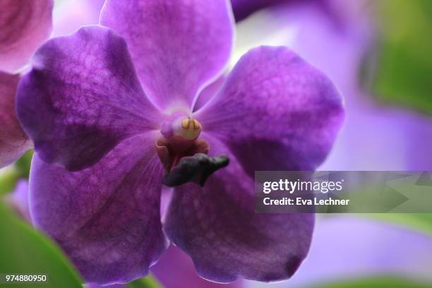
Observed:
[[[78,272],[60,249],[46,236],[19,220],[1,202],[0,231],[0,273],[47,275],[48,278],[44,284],[8,284],[7,287],[83,287]]]

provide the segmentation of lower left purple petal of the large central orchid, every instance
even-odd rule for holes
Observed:
[[[35,226],[64,249],[86,282],[130,282],[167,248],[160,222],[157,133],[124,140],[95,166],[68,172],[39,157],[30,175]]]

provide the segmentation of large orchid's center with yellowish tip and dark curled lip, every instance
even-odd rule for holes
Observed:
[[[156,143],[157,155],[167,171],[163,184],[179,186],[193,181],[203,186],[213,172],[227,166],[226,156],[207,155],[210,145],[199,138],[201,131],[200,122],[184,114],[173,114],[164,121],[162,137]]]

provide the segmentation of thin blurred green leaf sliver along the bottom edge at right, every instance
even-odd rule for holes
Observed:
[[[373,277],[361,280],[337,282],[333,284],[319,284],[310,288],[431,288],[431,284],[414,282],[403,278]]]

